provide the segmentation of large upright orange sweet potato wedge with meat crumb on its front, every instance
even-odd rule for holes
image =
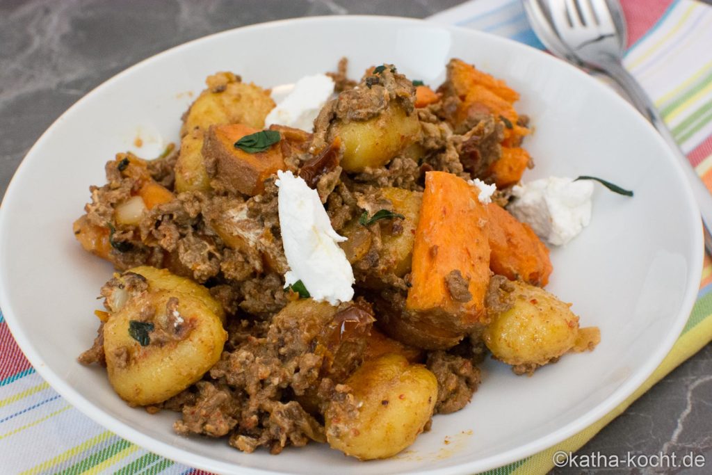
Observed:
[[[454,174],[425,175],[406,309],[445,330],[466,331],[486,318],[488,212],[477,195]]]

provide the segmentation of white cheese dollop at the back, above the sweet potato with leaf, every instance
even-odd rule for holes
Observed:
[[[279,93],[285,86],[275,88]],[[325,74],[304,76],[294,88],[278,101],[265,119],[265,127],[272,124],[286,125],[312,132],[314,119],[334,92],[334,80]],[[281,94],[280,94],[281,95]],[[276,94],[273,94],[273,98]]]

